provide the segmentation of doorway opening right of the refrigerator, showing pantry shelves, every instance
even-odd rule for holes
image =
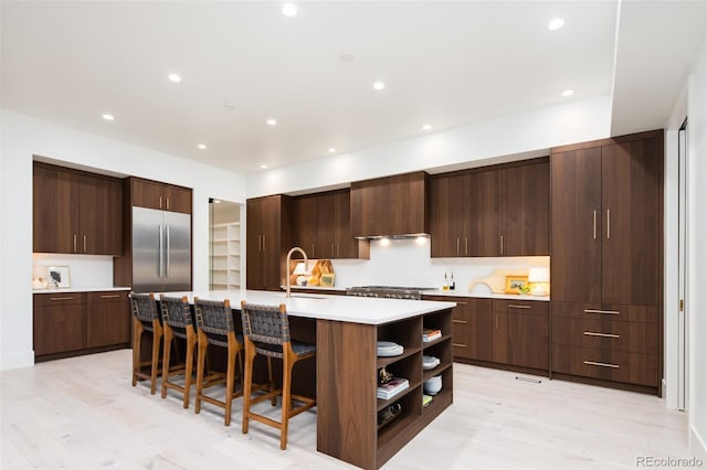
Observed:
[[[209,199],[209,289],[241,288],[242,204]]]

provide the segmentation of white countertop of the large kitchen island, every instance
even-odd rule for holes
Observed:
[[[370,297],[327,296],[319,293],[293,292],[287,299],[285,292],[265,290],[201,290],[189,292],[165,292],[170,297],[187,296],[205,300],[229,299],[231,308],[240,309],[241,300],[251,303],[277,306],[284,303],[292,317],[317,320],[346,321],[366,324],[384,324],[439,310],[451,309],[455,302],[429,300],[380,299]],[[159,293],[155,297],[159,299]]]

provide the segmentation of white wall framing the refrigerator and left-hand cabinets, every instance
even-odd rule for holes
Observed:
[[[0,110],[0,370],[34,362],[31,285],[33,154],[192,188],[193,286],[194,289],[208,289],[209,197],[244,202],[242,175],[6,109]],[[70,263],[72,258],[59,257],[59,260]]]

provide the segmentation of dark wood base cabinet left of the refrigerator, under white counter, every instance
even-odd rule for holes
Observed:
[[[130,343],[128,291],[34,295],[35,362]]]

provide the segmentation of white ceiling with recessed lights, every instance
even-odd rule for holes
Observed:
[[[3,0],[2,107],[241,173],[612,86],[619,135],[664,126],[707,2],[297,4]]]

